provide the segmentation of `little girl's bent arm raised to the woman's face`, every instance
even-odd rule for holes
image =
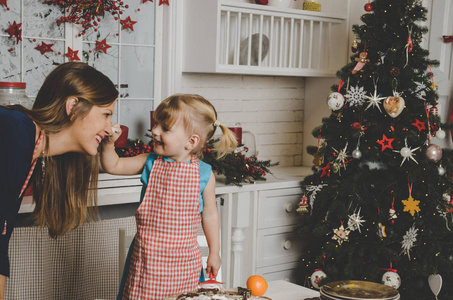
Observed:
[[[145,166],[148,153],[140,154],[133,157],[119,157],[115,151],[114,142],[121,135],[121,129],[117,124],[112,128],[112,136],[108,136],[102,143],[101,147],[101,165],[102,168],[114,175],[135,175],[139,174]]]

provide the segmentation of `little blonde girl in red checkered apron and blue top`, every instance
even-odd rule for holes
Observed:
[[[215,149],[219,157],[236,147],[235,136],[217,121],[212,104],[198,95],[171,96],[157,107],[154,117],[154,153],[119,158],[113,146],[120,135],[115,130],[118,125],[101,152],[102,166],[111,174],[143,170],[141,204],[135,213],[137,233],[118,299],[159,300],[197,290],[202,270],[197,243],[200,221],[209,247],[206,272],[217,276],[220,268],[215,177],[211,166],[197,156],[217,127],[222,130]]]

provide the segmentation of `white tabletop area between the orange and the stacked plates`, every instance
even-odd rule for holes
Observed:
[[[319,292],[285,280],[270,281],[264,296],[272,300],[305,300],[319,297]]]

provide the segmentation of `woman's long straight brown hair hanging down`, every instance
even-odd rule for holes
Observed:
[[[71,114],[73,118],[66,113],[69,97],[79,99]],[[47,226],[51,237],[63,235],[96,216],[99,154],[69,152],[46,156],[48,134],[72,126],[93,106],[109,106],[117,97],[118,91],[107,76],[85,63],[68,62],[47,76],[33,108],[21,109],[46,133],[44,157],[38,160],[32,177],[36,204],[33,219],[41,228]]]

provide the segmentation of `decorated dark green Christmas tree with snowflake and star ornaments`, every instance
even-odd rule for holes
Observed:
[[[304,274],[315,287],[365,280],[398,288],[404,300],[451,300],[452,151],[436,145],[450,125],[437,114],[438,62],[420,45],[427,12],[420,0],[364,8],[351,62],[328,98],[331,115],[307,148]],[[443,279],[440,293],[430,275]]]

